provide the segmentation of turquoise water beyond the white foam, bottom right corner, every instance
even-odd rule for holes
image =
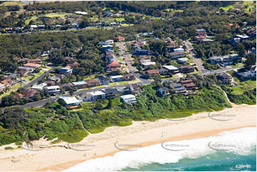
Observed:
[[[217,151],[199,158],[182,158],[177,163],[150,163],[121,171],[256,171],[256,146],[244,156]]]

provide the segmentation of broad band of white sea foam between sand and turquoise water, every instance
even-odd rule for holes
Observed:
[[[120,151],[114,156],[91,159],[65,171],[119,171],[122,168],[135,168],[147,163],[176,163],[181,158],[198,158],[217,150],[249,154],[253,146],[256,146],[256,128],[246,127],[233,131],[222,131],[219,136],[171,141],[140,148],[137,151]]]

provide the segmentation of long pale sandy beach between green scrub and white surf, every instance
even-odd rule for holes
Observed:
[[[256,105],[233,105],[219,112],[201,112],[184,119],[133,122],[127,127],[108,127],[76,144],[33,141],[33,149],[5,150],[0,146],[1,171],[62,171],[92,158],[112,156],[122,149],[139,148],[163,141],[215,136],[221,131],[256,127]],[[51,147],[49,147],[51,146]],[[67,149],[70,148],[70,149]]]

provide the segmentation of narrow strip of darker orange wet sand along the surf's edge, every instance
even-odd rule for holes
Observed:
[[[162,142],[192,140],[192,139],[205,138],[205,137],[209,137],[209,136],[217,136],[222,131],[232,131],[232,130],[235,130],[235,129],[242,129],[242,128],[246,128],[246,127],[256,127],[256,126],[253,125],[253,126],[245,126],[245,127],[236,127],[236,128],[231,128],[231,129],[219,129],[219,130],[211,130],[211,131],[202,131],[202,132],[195,133],[195,134],[189,134],[189,135],[185,135],[185,136],[177,136],[177,137],[174,137],[174,138],[164,139],[164,140],[160,140],[160,141],[140,143],[140,145],[142,145],[142,147],[146,147],[146,146],[152,146],[154,144],[161,144]],[[135,149],[135,148],[138,148],[138,147],[137,146],[126,147],[126,149]],[[105,154],[103,156],[96,156],[96,157],[93,157],[93,158],[90,158],[90,159],[104,158],[106,156],[114,156],[117,152],[120,152],[120,151],[121,150],[112,151],[112,152],[110,152],[108,154]],[[38,169],[36,171],[63,171],[63,170],[67,170],[68,168],[76,166],[79,163],[83,163],[83,162],[85,162],[85,161],[83,161],[83,160],[81,160],[81,161],[70,161],[70,162],[67,162],[67,163],[60,163],[60,164],[56,164],[56,165],[53,165],[53,166],[48,166],[46,168],[41,168],[41,169]]]

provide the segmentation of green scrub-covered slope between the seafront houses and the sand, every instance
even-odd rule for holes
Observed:
[[[159,97],[157,87],[144,86],[145,94],[137,97],[137,103],[132,105],[120,102],[117,97],[85,102],[78,111],[68,111],[58,102],[31,109],[6,107],[0,120],[0,145],[32,141],[42,136],[58,138],[53,143],[61,140],[74,143],[88,136],[87,131],[94,134],[110,126],[127,126],[132,120],[188,117],[193,113],[231,107],[217,87],[203,87],[197,95],[188,97]]]

